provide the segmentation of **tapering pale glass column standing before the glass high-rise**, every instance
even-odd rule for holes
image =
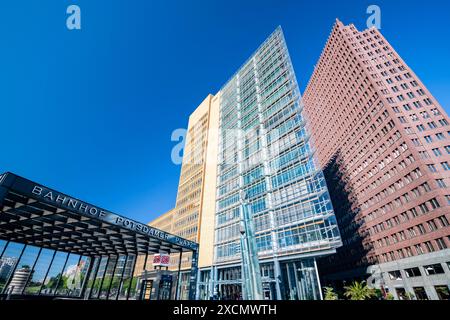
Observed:
[[[250,216],[245,191],[240,192],[242,207],[240,233],[242,277],[244,285],[244,298],[246,300],[262,300],[261,269],[259,267],[258,250],[253,228],[253,219]]]

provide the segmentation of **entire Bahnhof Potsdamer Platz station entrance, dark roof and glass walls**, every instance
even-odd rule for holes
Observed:
[[[157,297],[173,299],[177,293],[168,288],[179,272],[146,270],[146,262],[152,254],[183,252],[192,253],[189,298],[194,299],[197,243],[15,174],[0,175],[3,298],[145,299],[152,296],[150,272],[165,292]],[[141,271],[138,256],[145,257]]]

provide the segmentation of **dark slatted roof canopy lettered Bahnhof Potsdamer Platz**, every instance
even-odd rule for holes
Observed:
[[[139,255],[192,252],[190,297],[195,296],[197,243],[12,173],[0,175],[0,239],[89,257],[91,262],[95,257],[118,260],[133,256],[133,269]],[[95,272],[93,263],[89,269],[90,273]]]

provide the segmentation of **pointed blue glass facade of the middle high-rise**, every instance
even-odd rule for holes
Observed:
[[[340,245],[331,200],[302,110],[278,28],[220,92],[216,265],[241,258],[242,190],[253,217],[260,259],[320,254]],[[301,298],[299,292],[293,296]]]

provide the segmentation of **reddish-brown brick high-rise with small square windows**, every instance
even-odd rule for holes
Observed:
[[[448,296],[449,118],[379,30],[337,21],[304,94],[344,246],[326,281]]]

